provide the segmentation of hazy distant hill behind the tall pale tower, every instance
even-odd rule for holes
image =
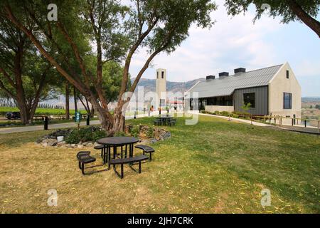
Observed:
[[[132,78],[131,81],[133,83],[135,78]],[[188,89],[190,89],[192,86],[194,86],[198,81],[203,81],[204,78],[198,78],[192,81],[186,81],[183,83],[179,82],[173,82],[173,81],[167,81],[166,82],[166,90],[172,93],[177,92],[186,92]],[[141,78],[138,86],[144,86],[144,93],[147,93],[149,91],[156,91],[156,79],[147,79],[147,78]]]

